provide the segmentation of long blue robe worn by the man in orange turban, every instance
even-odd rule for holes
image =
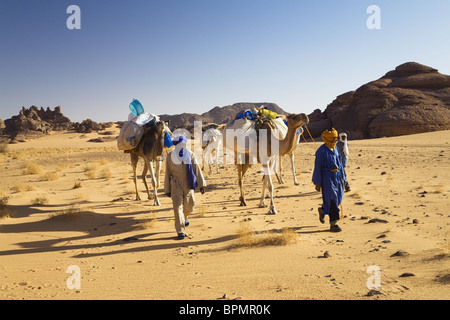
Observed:
[[[333,172],[336,169],[339,171]],[[339,209],[344,197],[344,180],[345,173],[338,148],[331,150],[323,144],[316,151],[312,182],[322,188],[324,214],[330,214],[331,201]]]

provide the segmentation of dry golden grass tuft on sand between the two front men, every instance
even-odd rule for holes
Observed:
[[[238,245],[242,247],[284,246],[295,243],[297,234],[290,228],[281,232],[254,232],[248,223],[241,223],[238,231]]]

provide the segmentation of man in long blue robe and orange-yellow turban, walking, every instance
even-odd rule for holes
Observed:
[[[330,231],[340,232],[339,206],[344,197],[345,172],[336,143],[338,133],[332,128],[322,132],[323,145],[316,151],[312,182],[317,191],[322,191],[322,207],[319,208],[319,220],[325,223],[325,215],[330,217]]]

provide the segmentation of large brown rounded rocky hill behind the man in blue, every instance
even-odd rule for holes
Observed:
[[[313,136],[333,126],[350,139],[450,129],[450,76],[408,62],[310,116]]]

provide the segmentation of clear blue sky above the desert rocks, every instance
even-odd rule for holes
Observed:
[[[69,30],[67,7],[81,9]],[[366,12],[381,9],[381,29]],[[324,110],[416,61],[450,74],[450,1],[0,0],[0,119],[203,113],[236,102]]]

